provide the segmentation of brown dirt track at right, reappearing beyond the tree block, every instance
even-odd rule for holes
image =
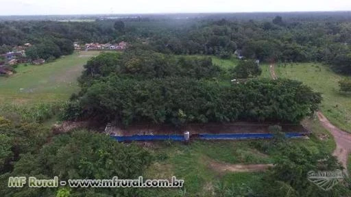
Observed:
[[[269,66],[269,71],[272,79],[278,79],[274,72],[274,65]],[[344,172],[348,174],[348,155],[351,153],[351,134],[332,125],[321,111],[317,112],[317,116],[322,126],[334,136],[337,148],[335,148],[332,155],[337,157],[339,162],[343,165],[343,168],[345,168]]]

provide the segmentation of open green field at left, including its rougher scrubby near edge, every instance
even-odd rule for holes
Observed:
[[[0,116],[15,122],[56,117],[69,96],[80,90],[77,77],[83,65],[97,54],[82,51],[41,66],[20,64],[14,75],[0,77]]]

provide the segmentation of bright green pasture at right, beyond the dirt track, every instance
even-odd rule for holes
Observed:
[[[265,69],[265,68],[263,68]],[[351,95],[339,92],[339,83],[343,76],[333,73],[322,64],[287,64],[276,65],[276,75],[302,81],[317,92],[321,92],[323,101],[321,110],[335,126],[351,132]],[[269,70],[263,74],[269,75]]]

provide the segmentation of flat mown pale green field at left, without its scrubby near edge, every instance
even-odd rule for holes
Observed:
[[[77,77],[81,75],[83,65],[97,54],[99,51],[80,51],[40,66],[21,64],[14,75],[0,77],[0,102],[65,101],[77,92]]]

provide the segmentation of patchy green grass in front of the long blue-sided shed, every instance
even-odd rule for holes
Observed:
[[[213,196],[221,184],[241,186],[257,183],[256,172],[218,172],[210,168],[210,162],[270,163],[271,157],[250,146],[250,141],[195,141],[189,145],[178,142],[154,143],[151,150],[158,158],[146,176],[152,179],[168,179],[176,176],[185,180],[186,196]],[[156,189],[160,196],[177,196],[175,189]]]

